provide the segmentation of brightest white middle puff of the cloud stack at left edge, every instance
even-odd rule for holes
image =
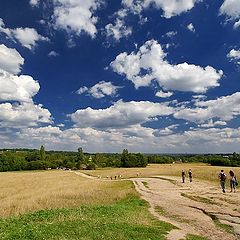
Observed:
[[[0,101],[32,102],[39,89],[31,76],[16,76],[0,69]]]

